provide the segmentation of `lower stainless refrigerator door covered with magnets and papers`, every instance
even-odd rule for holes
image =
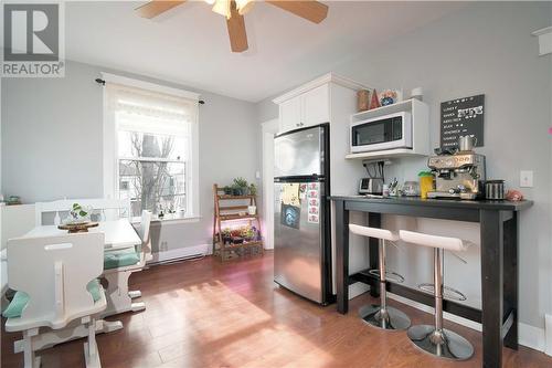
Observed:
[[[283,202],[285,186],[305,186],[300,207]],[[274,281],[322,303],[322,182],[276,182],[274,215]]]

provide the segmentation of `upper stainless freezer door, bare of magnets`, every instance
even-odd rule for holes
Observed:
[[[323,176],[321,126],[287,133],[274,139],[274,177]]]

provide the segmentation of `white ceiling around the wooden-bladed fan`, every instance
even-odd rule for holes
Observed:
[[[329,14],[320,24],[267,3],[255,4],[245,15],[250,50],[236,54],[230,51],[225,19],[201,1],[187,2],[155,20],[135,14],[140,2],[67,2],[66,59],[258,102],[461,7],[325,3]]]

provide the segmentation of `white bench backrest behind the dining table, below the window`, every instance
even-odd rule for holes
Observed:
[[[53,223],[60,224],[62,222],[62,214],[68,213],[73,203],[91,207],[95,212],[99,212],[99,221],[117,220],[120,218],[129,219],[131,215],[129,199],[61,199],[52,202],[36,202],[34,204],[36,227],[44,224],[44,213],[55,213]]]

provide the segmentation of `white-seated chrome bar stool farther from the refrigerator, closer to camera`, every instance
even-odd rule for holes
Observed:
[[[427,235],[414,231],[401,230],[399,233],[401,240],[405,242],[434,248],[433,290],[435,296],[435,326],[412,326],[407,332],[408,338],[422,350],[437,357],[453,360],[470,358],[474,355],[471,344],[460,335],[443,328],[443,293],[445,290],[448,290],[459,294],[459,292],[443,286],[443,251],[466,251],[470,243],[457,238]],[[423,284],[423,286],[421,288],[425,290],[427,284]],[[466,297],[461,295],[460,299],[466,299]]]

